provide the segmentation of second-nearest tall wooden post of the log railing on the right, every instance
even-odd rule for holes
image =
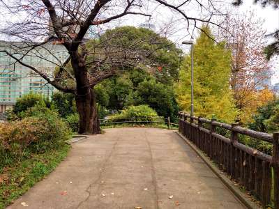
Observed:
[[[234,143],[237,141],[237,132],[234,131],[234,127],[238,126],[239,123],[232,123],[232,135],[230,141],[230,152],[229,152],[229,173],[232,178],[237,178],[235,164],[237,161],[237,153],[234,150]]]

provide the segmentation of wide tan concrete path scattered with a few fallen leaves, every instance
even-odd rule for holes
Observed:
[[[172,130],[107,129],[9,208],[243,208]]]

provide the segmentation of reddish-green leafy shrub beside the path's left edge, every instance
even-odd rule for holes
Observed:
[[[0,124],[0,169],[32,153],[59,148],[70,133],[55,111],[38,105],[28,109],[21,121]]]

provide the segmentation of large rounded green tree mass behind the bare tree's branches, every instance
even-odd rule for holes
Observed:
[[[148,104],[160,116],[169,116],[174,120],[178,108],[172,86],[178,79],[181,49],[149,29],[132,26],[109,30],[100,40],[91,40],[87,45],[98,45],[107,37],[117,37],[112,38],[112,45],[121,45],[123,48],[134,45],[133,51],[140,50],[145,56],[139,56],[142,59],[139,65],[123,66],[123,74],[110,77],[94,87],[98,104],[117,111],[130,105]],[[137,42],[141,44],[135,45]],[[89,57],[89,61],[91,59],[94,58]]]

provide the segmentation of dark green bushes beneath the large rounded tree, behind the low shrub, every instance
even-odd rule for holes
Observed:
[[[130,105],[147,104],[159,116],[176,120],[178,107],[172,85],[160,83],[145,70],[135,69],[121,77],[112,77],[95,88],[98,104],[106,109],[121,111]]]

